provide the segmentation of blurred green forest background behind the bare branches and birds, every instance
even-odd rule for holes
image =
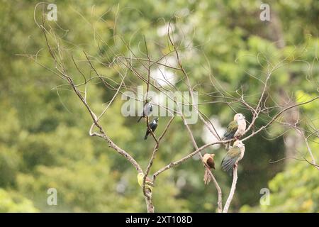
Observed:
[[[247,100],[254,103],[262,84],[252,76],[264,79],[267,63],[275,65],[286,57],[287,64],[272,76],[267,89],[271,99],[267,104],[284,104],[289,98],[298,103],[318,96],[319,1],[52,3],[57,4],[57,23],[48,23],[65,44],[65,52],[72,50],[78,60],[85,59],[83,50],[104,63],[115,56],[110,48],[128,55],[121,38],[142,56],[139,50],[143,35],[156,59],[168,51],[165,23],[175,15],[174,33],[181,43],[184,67],[192,84],[203,84],[199,92],[216,92],[208,77],[213,73],[225,91],[236,96],[235,90],[242,89]],[[262,3],[269,4],[271,21],[259,19]],[[0,0],[0,211],[145,212],[137,172],[103,140],[89,137],[91,118],[74,92],[69,87],[55,89],[64,82],[21,56],[35,55],[40,50],[39,62],[54,67],[47,50],[43,50],[45,39],[33,18],[36,4],[38,1]],[[108,46],[96,41],[97,34]],[[72,61],[66,60],[65,65],[80,82],[82,77]],[[88,78],[93,74],[85,62],[79,65]],[[118,81],[118,72],[113,68],[101,64],[96,64],[96,68]],[[132,79],[128,86],[136,87],[138,80],[131,73],[128,77]],[[177,86],[186,90],[185,84]],[[88,99],[99,113],[113,94],[114,91],[96,82],[89,86]],[[218,101],[211,96],[199,98]],[[154,141],[143,140],[145,125],[136,123],[137,118],[124,118],[120,114],[122,104],[118,96],[101,123],[108,135],[130,151],[145,169]],[[224,127],[234,114],[228,105],[218,102],[200,108]],[[251,120],[250,112],[242,106],[234,104],[233,108]],[[299,123],[306,129],[306,135],[318,131],[318,109],[318,99],[298,108]],[[289,116],[286,118],[290,121]],[[168,117],[160,119],[157,135],[168,120]],[[266,116],[260,118],[257,127],[267,120]],[[191,152],[191,141],[181,128],[181,119],[177,118],[160,146],[151,173]],[[191,129],[198,145],[203,145],[207,140],[203,124],[198,122]],[[315,134],[310,136],[309,145],[316,160],[319,160],[318,143]],[[225,201],[232,180],[220,171],[225,152],[223,148],[206,151],[216,153],[215,175]],[[230,211],[318,212],[318,170],[293,159],[270,162],[291,155],[310,160],[301,138],[279,124],[247,140]],[[57,206],[47,205],[49,188],[57,189]],[[262,188],[270,190],[269,205],[259,204]],[[213,184],[204,186],[203,166],[196,158],[159,175],[153,196],[155,211],[214,212],[217,208],[216,189]]]

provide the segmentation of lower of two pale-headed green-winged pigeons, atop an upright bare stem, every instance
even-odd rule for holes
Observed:
[[[225,157],[222,160],[222,170],[228,172],[230,176],[233,175],[233,167],[242,160],[245,154],[245,144],[241,140],[236,140],[233,147],[230,147]]]

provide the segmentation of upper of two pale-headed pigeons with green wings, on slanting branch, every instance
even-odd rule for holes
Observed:
[[[231,121],[228,126],[227,130],[223,136],[223,140],[229,140],[235,138],[241,138],[244,135],[246,130],[246,121],[245,116],[242,114],[235,114],[234,121]],[[226,144],[226,149],[229,148],[230,143]]]

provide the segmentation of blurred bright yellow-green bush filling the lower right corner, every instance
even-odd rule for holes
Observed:
[[[270,204],[242,206],[242,212],[316,212],[319,211],[318,170],[308,162],[291,162],[269,182]]]

